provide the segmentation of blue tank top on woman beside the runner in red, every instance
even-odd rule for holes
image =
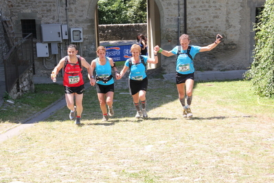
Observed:
[[[96,58],[96,67],[95,67],[95,72],[96,72],[96,76],[100,77],[100,78],[104,78],[104,77],[109,77],[111,76],[111,64],[109,63],[109,58],[106,57],[106,64],[105,65],[100,65],[98,63],[98,59]],[[100,84],[100,85],[112,85],[114,83],[114,79],[111,78],[111,80],[107,81],[106,83],[104,83],[102,80],[98,80],[96,81],[96,83]]]

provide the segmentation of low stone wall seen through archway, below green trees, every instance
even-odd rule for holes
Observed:
[[[146,34],[146,23],[99,25],[99,41],[135,40]]]

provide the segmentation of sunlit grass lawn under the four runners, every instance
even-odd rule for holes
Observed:
[[[108,122],[89,87],[81,127],[64,107],[1,143],[0,182],[274,182],[273,99],[249,81],[196,83],[187,119],[174,83],[148,85],[148,120],[119,80]]]

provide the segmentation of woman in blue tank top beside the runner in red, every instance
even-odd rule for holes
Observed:
[[[113,111],[113,96],[114,96],[114,79],[111,74],[111,68],[115,72],[115,77],[119,77],[115,62],[112,58],[106,57],[106,49],[103,46],[99,46],[97,49],[98,58],[91,61],[91,73],[95,69],[96,76],[90,76],[92,85],[96,83],[96,91],[100,108],[102,110],[104,121],[109,120],[109,116],[114,115]],[[106,105],[109,108],[109,115],[106,109]]]

